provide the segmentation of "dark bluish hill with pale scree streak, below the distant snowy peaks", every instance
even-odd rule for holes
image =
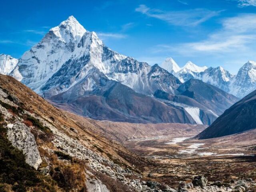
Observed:
[[[194,119],[197,116],[203,124],[208,125],[212,124],[226,108],[238,101],[235,96],[196,79],[190,79],[180,85],[175,96],[157,90],[154,97],[170,106],[182,107]],[[200,124],[200,121],[197,123]]]

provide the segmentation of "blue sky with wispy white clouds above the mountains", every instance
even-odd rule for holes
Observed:
[[[0,53],[20,58],[68,16],[113,50],[149,64],[232,73],[256,60],[256,0],[8,0],[1,2]]]

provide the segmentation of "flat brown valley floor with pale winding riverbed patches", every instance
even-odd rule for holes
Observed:
[[[237,180],[256,180],[255,131],[208,140],[196,140],[193,136],[134,139],[124,145],[156,164],[146,168],[145,176],[173,188],[178,188],[180,181],[191,183],[197,175],[208,178],[208,185],[216,181],[232,185]]]

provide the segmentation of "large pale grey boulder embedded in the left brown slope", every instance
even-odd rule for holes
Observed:
[[[12,142],[13,146],[22,150],[23,154],[26,155],[26,163],[37,170],[42,159],[30,128],[21,122],[8,124],[7,128],[8,140]]]

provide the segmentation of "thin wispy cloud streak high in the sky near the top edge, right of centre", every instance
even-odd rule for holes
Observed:
[[[221,11],[210,11],[207,9],[193,9],[184,11],[164,11],[152,9],[142,4],[135,9],[136,12],[148,17],[157,18],[177,26],[197,26],[206,20],[217,16]]]

